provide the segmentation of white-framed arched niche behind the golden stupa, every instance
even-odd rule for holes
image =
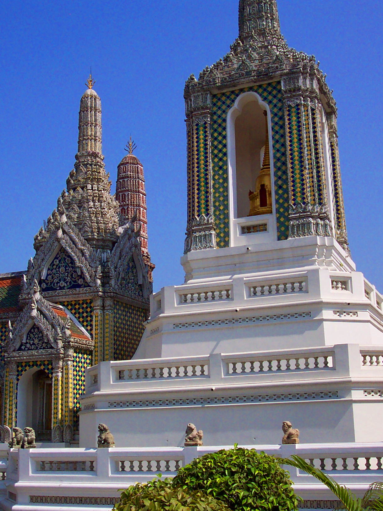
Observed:
[[[266,112],[266,121],[265,113]],[[269,134],[273,213],[250,217],[249,191],[254,191]],[[274,158],[270,108],[256,92],[244,92],[227,116],[230,246],[277,240]],[[259,229],[257,228],[259,226]]]

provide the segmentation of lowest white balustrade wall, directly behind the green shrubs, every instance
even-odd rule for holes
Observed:
[[[383,443],[244,446],[278,457],[292,454],[312,460],[318,468],[362,496],[368,485],[383,481]],[[153,449],[33,449],[9,451],[4,511],[110,510],[118,490],[146,482],[161,472],[173,477],[178,467],[228,446]],[[334,496],[316,479],[285,467],[305,509],[333,509]]]

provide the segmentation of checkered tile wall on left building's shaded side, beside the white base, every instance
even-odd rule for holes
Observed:
[[[130,360],[137,350],[148,311],[114,302],[114,360]]]

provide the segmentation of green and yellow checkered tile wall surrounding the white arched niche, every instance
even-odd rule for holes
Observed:
[[[254,87],[231,90],[216,94],[212,98],[211,115],[211,156],[213,209],[217,226],[217,246],[229,246],[229,201],[228,167],[226,147],[227,114],[236,98],[252,90],[257,92],[271,110],[274,183],[277,208],[278,239],[289,236],[289,182],[285,151],[284,109],[280,82],[265,83]]]

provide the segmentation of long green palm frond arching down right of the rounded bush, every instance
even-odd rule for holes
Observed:
[[[328,489],[331,490],[331,492],[342,502],[346,511],[363,511],[365,509],[362,505],[362,499],[357,498],[348,488],[337,483],[337,481],[332,479],[332,477],[329,477],[319,469],[316,469],[300,456],[294,454],[291,458],[281,458],[279,462],[284,465],[289,465],[290,467],[303,470],[304,472],[307,472],[307,474],[318,479],[321,483],[325,484]]]

